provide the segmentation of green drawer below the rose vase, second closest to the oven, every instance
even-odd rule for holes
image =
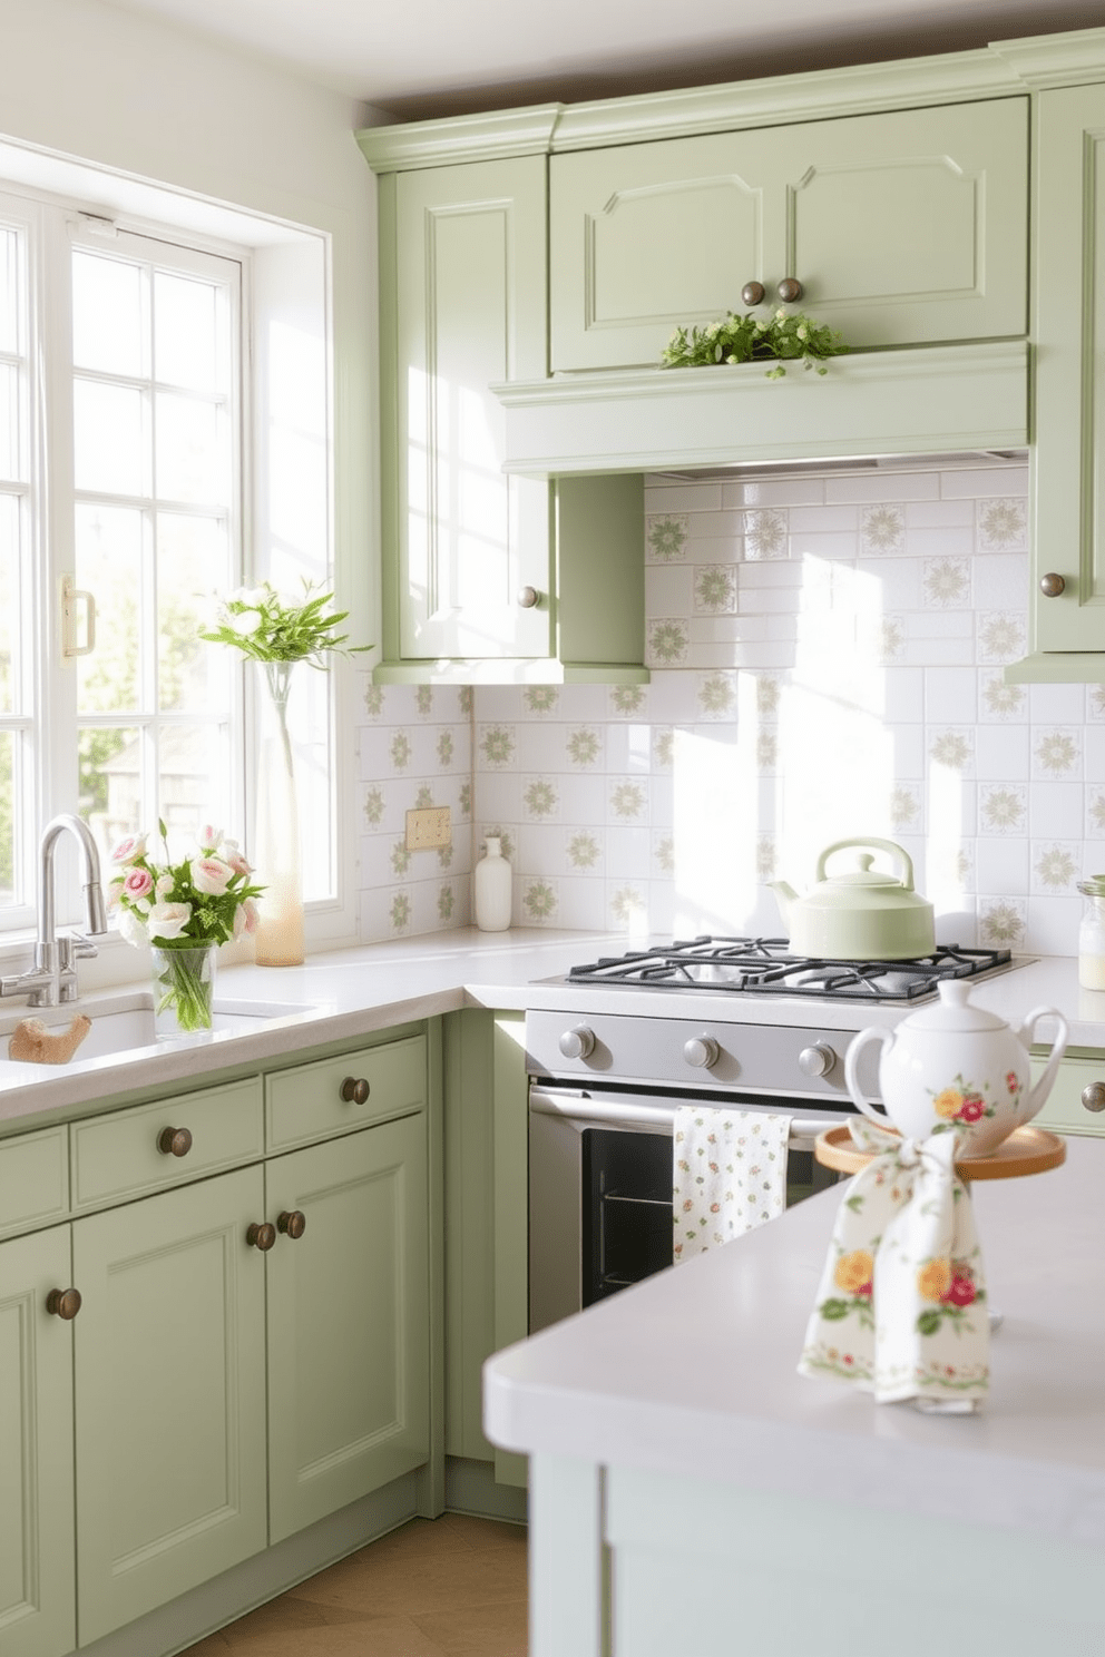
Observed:
[[[192,1137],[184,1155],[161,1150],[166,1128]],[[250,1162],[263,1152],[262,1080],[258,1075],[195,1094],[176,1094],[152,1105],[133,1105],[70,1127],[73,1208],[126,1201],[169,1185],[182,1185],[219,1168]]]

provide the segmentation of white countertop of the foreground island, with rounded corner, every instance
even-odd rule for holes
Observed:
[[[830,1190],[484,1365],[507,1450],[649,1468],[1105,1544],[1105,1142],[972,1186],[991,1304],[984,1412],[876,1405],[797,1374]]]

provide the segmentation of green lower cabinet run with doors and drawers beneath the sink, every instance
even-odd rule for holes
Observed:
[[[73,1218],[0,1241],[0,1657],[91,1645],[427,1463],[427,1097],[416,1036],[70,1125]],[[81,1213],[113,1158],[133,1200]],[[0,1138],[0,1183],[27,1167]]]

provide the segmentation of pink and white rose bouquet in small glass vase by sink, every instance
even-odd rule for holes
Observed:
[[[119,935],[136,948],[162,951],[157,1007],[176,1011],[181,1029],[210,1027],[210,976],[194,951],[240,938],[257,930],[253,870],[237,840],[207,824],[194,855],[172,862],[164,822],[159,822],[164,858],[147,850],[147,837],[128,835],[111,852],[108,906]]]

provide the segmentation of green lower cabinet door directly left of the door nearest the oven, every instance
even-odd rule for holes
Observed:
[[[260,1167],[73,1226],[81,1645],[265,1546]]]

